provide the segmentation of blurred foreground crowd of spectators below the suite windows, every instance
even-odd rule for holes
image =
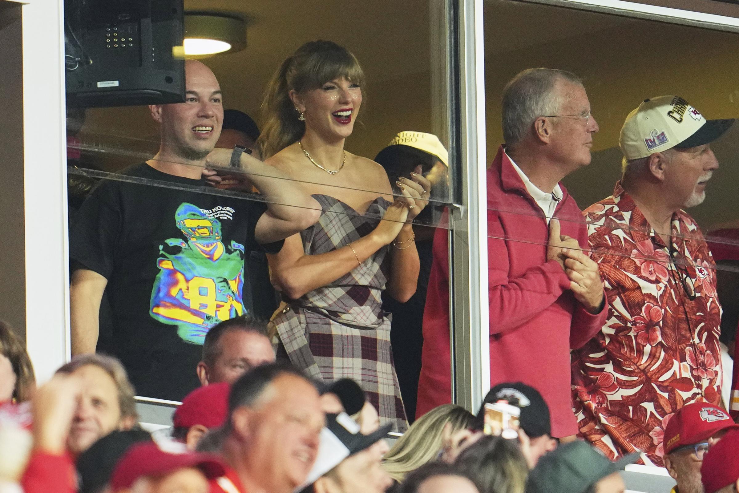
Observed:
[[[520,382],[491,389],[477,416],[432,409],[392,448],[392,424],[380,425],[356,382],[313,381],[286,362],[194,390],[173,426],[154,433],[137,423],[115,358],[77,356],[26,389],[30,407],[0,404],[2,493],[623,493],[619,472],[639,458],[612,462],[588,441],[558,444],[542,395]],[[486,409],[501,403],[519,409],[517,438],[486,431]],[[738,429],[709,403],[676,412],[661,443],[674,492],[735,491]]]

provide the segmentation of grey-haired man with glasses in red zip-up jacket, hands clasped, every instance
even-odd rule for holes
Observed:
[[[525,70],[504,89],[507,145],[488,170],[491,385],[522,381],[536,388],[551,408],[557,438],[577,432],[570,348],[598,333],[607,313],[598,266],[585,253],[582,212],[559,184],[590,163],[595,132],[579,78]],[[440,229],[423,315],[418,416],[451,396],[448,251]]]

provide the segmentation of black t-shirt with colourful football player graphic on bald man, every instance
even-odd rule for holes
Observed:
[[[69,232],[70,256],[108,280],[112,351],[137,395],[180,401],[199,385],[205,333],[253,310],[244,259],[282,242],[254,239],[265,203],[178,189],[208,185],[146,163],[120,175],[168,186],[102,180]]]

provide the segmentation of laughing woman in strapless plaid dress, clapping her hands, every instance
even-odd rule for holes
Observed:
[[[390,350],[384,290],[406,301],[418,281],[410,221],[428,203],[420,172],[398,179],[344,150],[364,98],[364,72],[331,41],[312,41],[282,63],[268,85],[259,143],[266,163],[302,182],[321,205],[319,222],[269,255],[284,305],[273,317],[278,356],[311,378],[353,378],[381,422],[406,429]]]

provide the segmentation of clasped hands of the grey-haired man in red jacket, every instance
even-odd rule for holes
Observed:
[[[584,254],[576,239],[561,234],[559,220],[549,222],[547,260],[556,260],[570,279],[575,299],[590,313],[598,313],[603,303],[603,281],[598,264]]]

